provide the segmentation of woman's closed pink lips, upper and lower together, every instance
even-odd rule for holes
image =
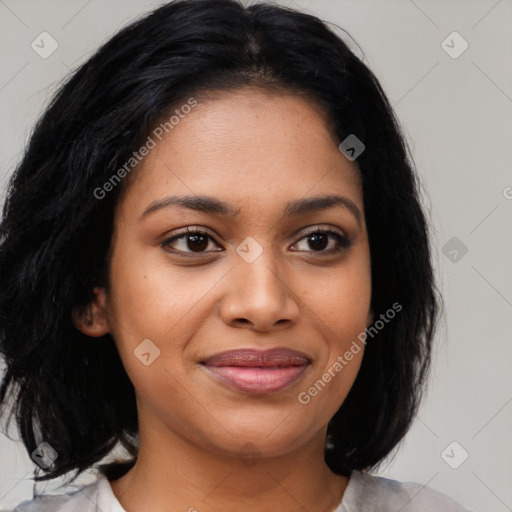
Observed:
[[[238,349],[208,357],[201,364],[224,384],[247,393],[275,393],[306,371],[311,359],[297,350]]]

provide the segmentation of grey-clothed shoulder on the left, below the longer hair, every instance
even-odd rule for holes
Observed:
[[[44,494],[20,503],[10,512],[95,512],[97,484],[89,484],[67,494]]]

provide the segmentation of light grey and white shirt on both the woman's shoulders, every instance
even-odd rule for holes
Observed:
[[[332,512],[472,512],[444,494],[413,482],[352,471],[343,499]],[[41,495],[12,512],[126,512],[109,481],[95,482],[62,495]]]

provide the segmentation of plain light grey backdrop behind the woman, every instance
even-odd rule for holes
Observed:
[[[56,87],[161,3],[0,0],[2,197]],[[425,483],[475,511],[512,511],[512,2],[278,3],[357,41],[364,55],[336,29],[381,81],[428,194],[446,321],[419,416],[379,474]],[[58,43],[46,59],[31,47],[42,32]],[[19,443],[0,437],[0,454],[1,509],[39,487]]]

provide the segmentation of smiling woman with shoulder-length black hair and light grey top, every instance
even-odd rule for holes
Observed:
[[[47,480],[16,510],[463,511],[371,476],[440,299],[372,72],[317,18],[171,2],[56,95],[10,183],[0,340]]]

